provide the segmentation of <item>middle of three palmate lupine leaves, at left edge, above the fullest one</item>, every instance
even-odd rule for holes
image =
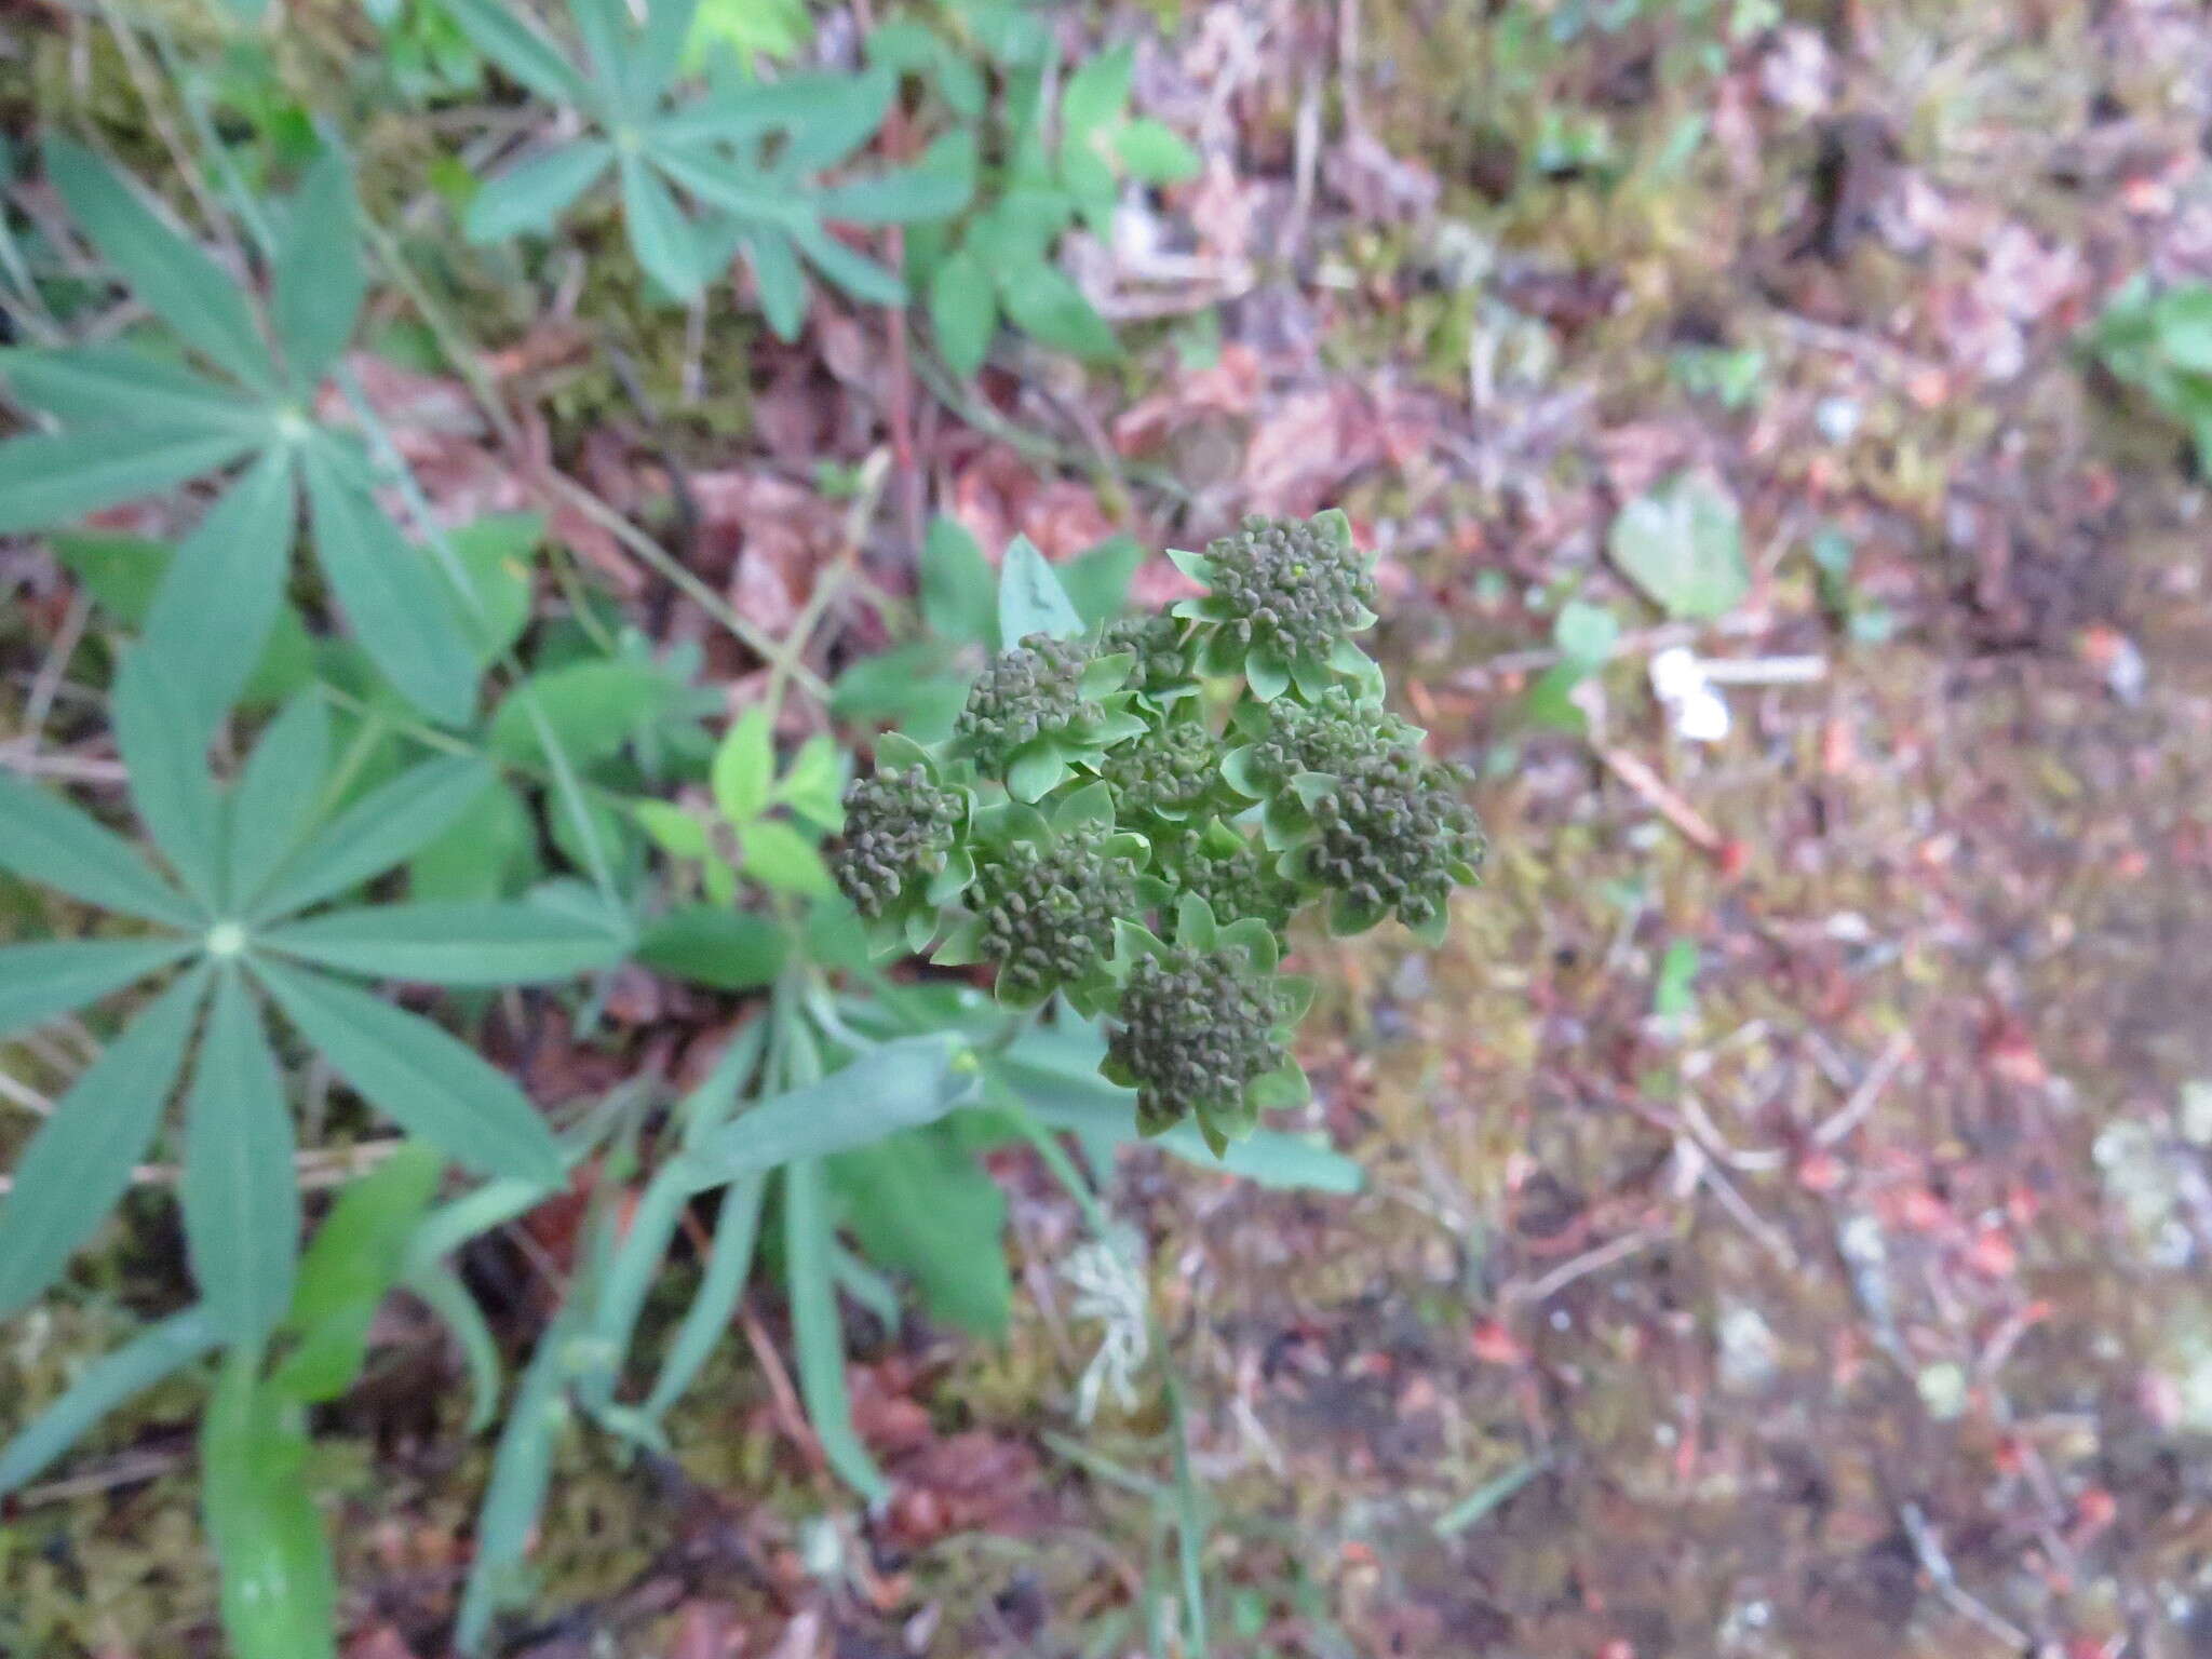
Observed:
[[[0,533],[69,524],[261,458],[170,560],[146,617],[144,648],[173,664],[197,752],[276,619],[307,456],[323,571],[361,646],[425,714],[467,719],[476,664],[445,584],[361,469],[327,460],[336,445],[314,422],[316,385],[367,294],[343,153],[325,150],[288,204],[268,338],[246,285],[133,181],[60,137],[46,170],[111,270],[212,376],[126,345],[0,354],[13,398],[62,427],[0,442]]]

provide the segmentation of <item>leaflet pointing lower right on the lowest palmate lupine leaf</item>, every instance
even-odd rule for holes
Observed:
[[[254,971],[332,1068],[409,1135],[487,1175],[555,1186],[560,1141],[504,1073],[427,1020],[276,962]]]

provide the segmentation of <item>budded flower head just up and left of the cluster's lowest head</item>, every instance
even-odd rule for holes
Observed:
[[[1108,832],[1079,825],[1051,843],[1015,841],[975,872],[969,902],[980,956],[1009,1002],[1079,982],[1113,949],[1115,916],[1137,909],[1137,865],[1106,852]]]

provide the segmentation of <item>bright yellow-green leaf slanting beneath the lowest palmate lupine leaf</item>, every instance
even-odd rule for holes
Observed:
[[[407,1141],[330,1208],[299,1263],[285,1325],[299,1345],[270,1385],[294,1400],[336,1400],[369,1352],[369,1321],[398,1279],[407,1239],[438,1192],[445,1155]]]

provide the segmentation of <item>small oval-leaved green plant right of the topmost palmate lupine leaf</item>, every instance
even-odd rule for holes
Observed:
[[[973,374],[1006,319],[1060,352],[1113,356],[1113,330],[1053,259],[1060,237],[1077,223],[1108,234],[1124,181],[1181,184],[1197,177],[1199,157],[1166,124],[1128,113],[1133,46],[1079,62],[1055,102],[1048,35],[1013,31],[987,40],[1000,46],[1004,69],[1004,131],[978,137],[975,150],[1004,161],[984,173],[973,212],[958,223],[916,226],[907,237],[938,352],[956,374]],[[872,35],[869,55],[929,73],[956,119],[984,124],[987,100],[973,69],[927,31],[887,24]]]

